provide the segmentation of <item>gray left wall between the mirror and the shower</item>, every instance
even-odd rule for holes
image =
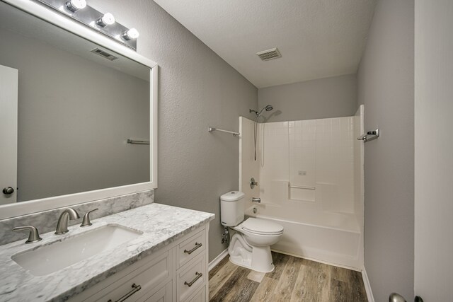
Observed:
[[[156,202],[209,211],[209,258],[221,245],[219,196],[239,186],[239,139],[209,126],[239,129],[257,88],[151,0],[91,0],[139,30],[138,52],[159,68],[159,184]]]

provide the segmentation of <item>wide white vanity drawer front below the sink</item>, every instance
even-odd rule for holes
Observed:
[[[115,281],[113,284],[105,287],[101,291],[98,291],[93,296],[86,299],[86,301],[117,301],[121,297],[128,293],[134,292],[127,301],[137,301],[138,298],[149,293],[151,289],[158,286],[162,282],[166,282],[171,279],[172,268],[172,257],[171,250],[164,252],[154,259],[150,259],[149,262],[142,262],[142,267],[135,269],[130,274],[127,274],[122,279]],[[140,286],[140,289],[134,289],[132,284]]]

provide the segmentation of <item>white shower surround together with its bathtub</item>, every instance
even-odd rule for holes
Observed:
[[[284,226],[273,250],[362,269],[363,143],[356,139],[362,120],[360,106],[355,117],[260,124],[253,161],[253,121],[240,118],[239,190],[248,216]],[[299,144],[297,136],[304,137]],[[258,181],[253,190],[251,177]],[[262,203],[252,204],[251,197]]]

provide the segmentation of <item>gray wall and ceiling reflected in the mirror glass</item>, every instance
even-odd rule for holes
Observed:
[[[0,8],[0,65],[18,69],[17,201],[148,182],[149,145],[126,141],[149,140],[149,68]]]

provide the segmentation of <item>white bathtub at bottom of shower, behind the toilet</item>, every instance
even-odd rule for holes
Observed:
[[[257,213],[253,213],[253,208]],[[282,207],[254,205],[246,216],[267,219],[285,228],[280,241],[271,248],[276,252],[310,260],[362,269],[361,233],[354,214],[326,211],[288,211]]]

